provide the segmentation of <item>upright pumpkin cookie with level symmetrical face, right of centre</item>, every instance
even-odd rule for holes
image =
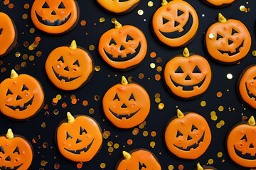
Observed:
[[[166,62],[164,82],[178,98],[190,99],[203,94],[210,85],[211,70],[208,61],[190,53],[187,48],[183,55],[176,55]]]

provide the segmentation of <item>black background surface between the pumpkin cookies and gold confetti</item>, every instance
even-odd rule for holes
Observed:
[[[195,40],[193,40],[193,42],[191,42],[191,44],[189,44],[187,47],[191,52],[206,57],[213,72],[212,83],[210,84],[208,91],[206,91],[206,93],[200,98],[192,101],[182,101],[169,94],[163,81],[156,81],[154,79],[155,74],[161,73],[156,72],[156,69],[151,69],[149,67],[151,62],[154,62],[156,66],[164,67],[167,60],[174,55],[181,54],[183,51],[183,49],[174,50],[169,47],[165,47],[154,38],[154,34],[151,33],[150,29],[150,21],[154,11],[159,8],[161,1],[152,1],[154,2],[154,6],[152,7],[147,5],[148,1],[143,0],[131,13],[127,13],[124,16],[114,16],[100,8],[100,6],[98,6],[97,2],[94,0],[78,0],[78,4],[80,5],[80,21],[85,20],[86,25],[81,26],[80,23],[78,23],[78,26],[70,31],[70,33],[61,36],[53,36],[42,33],[33,26],[30,19],[30,9],[33,1],[11,0],[11,3],[14,4],[13,9],[9,9],[8,5],[5,6],[3,0],[0,1],[0,11],[4,11],[13,19],[18,30],[18,47],[16,47],[9,55],[2,59],[4,64],[0,65],[0,69],[6,67],[7,70],[6,72],[0,74],[0,81],[3,81],[6,79],[6,77],[9,77],[11,69],[14,69],[16,64],[21,64],[21,62],[25,61],[27,63],[26,67],[18,70],[18,74],[30,74],[41,81],[46,95],[46,104],[49,106],[47,110],[43,109],[40,113],[38,113],[38,115],[26,122],[15,122],[4,117],[2,114],[0,115],[0,134],[7,132],[8,128],[12,128],[14,133],[23,135],[31,142],[34,137],[38,139],[38,142],[32,143],[35,158],[31,169],[40,169],[41,167],[43,167],[43,169],[54,169],[53,166],[55,163],[60,164],[60,169],[77,169],[77,163],[70,162],[68,159],[65,159],[62,155],[60,155],[58,148],[55,146],[53,136],[55,128],[60,120],[65,118],[67,111],[70,111],[73,115],[90,115],[90,113],[88,113],[90,108],[94,108],[95,110],[95,113],[90,116],[97,120],[102,130],[110,131],[111,135],[107,138],[107,140],[103,141],[100,153],[97,154],[92,161],[82,164],[82,169],[101,169],[100,164],[102,162],[106,164],[105,169],[114,169],[115,164],[121,157],[123,149],[129,151],[137,148],[149,149],[151,152],[156,154],[156,157],[158,157],[159,162],[161,163],[162,169],[168,169],[169,165],[174,165],[174,169],[178,169],[178,165],[180,164],[183,164],[184,169],[194,169],[198,162],[201,162],[203,165],[208,162],[208,159],[213,159],[213,166],[218,169],[246,169],[238,166],[228,157],[228,152],[225,149],[225,135],[228,133],[228,130],[233,127],[233,125],[242,120],[242,113],[247,115],[247,117],[250,117],[250,115],[255,115],[254,109],[247,106],[242,106],[242,103],[236,94],[235,85],[238,75],[242,69],[256,62],[256,58],[252,56],[252,51],[255,47],[256,1],[249,0],[249,4],[246,4],[246,1],[238,0],[236,1],[235,5],[228,6],[226,8],[212,8],[210,6],[206,6],[206,4],[203,4],[199,0],[188,1],[198,13],[199,28],[198,35],[196,36]],[[26,3],[30,4],[30,8],[27,10],[23,8],[24,4]],[[250,7],[250,12],[241,12],[239,10],[241,5]],[[139,9],[144,11],[142,16],[137,14]],[[208,26],[210,26],[210,24],[215,23],[218,12],[223,13],[226,18],[235,18],[242,21],[242,23],[247,26],[251,33],[251,50],[240,64],[218,64],[210,59],[203,48],[203,33],[206,31]],[[28,18],[26,20],[23,20],[22,18],[23,13],[28,14]],[[203,17],[202,14],[205,16]],[[101,17],[105,18],[104,23],[99,22]],[[148,42],[147,55],[142,64],[130,72],[117,72],[117,70],[110,68],[101,59],[97,52],[97,43],[100,40],[100,35],[105,33],[105,31],[109,30],[110,28],[113,28],[113,24],[111,23],[112,18],[117,18],[117,20],[122,23],[123,26],[126,24],[136,26],[137,28],[141,29],[146,36],[146,40]],[[146,21],[144,21],[144,19],[146,19]],[[29,33],[30,28],[35,28],[36,32],[33,34]],[[86,35],[86,33],[88,34]],[[23,42],[25,41],[28,41],[31,45],[37,36],[41,37],[41,41],[38,47],[36,47],[36,50],[30,51],[28,50],[28,47],[23,46]],[[44,63],[46,62],[46,58],[50,52],[55,49],[55,47],[69,44],[72,40],[76,40],[78,45],[85,47],[85,49],[88,49],[90,45],[95,45],[95,50],[90,51],[90,53],[93,57],[95,65],[99,65],[101,69],[100,72],[95,72],[90,82],[82,87],[82,89],[75,91],[62,91],[53,86],[53,84],[51,84],[51,82],[48,80],[44,69]],[[36,52],[38,50],[43,52],[41,57],[36,57]],[[21,57],[15,57],[16,52],[21,52]],[[155,58],[150,57],[151,52],[156,52]],[[23,54],[27,54],[28,56],[34,55],[35,60],[33,60],[33,62],[23,60]],[[161,57],[163,61],[161,63],[157,63],[157,57]],[[139,79],[139,73],[144,74],[144,79]],[[233,74],[233,79],[229,80],[226,78],[228,73]],[[117,74],[116,77],[115,74]],[[108,77],[108,75],[110,75],[110,77]],[[103,95],[107,89],[114,84],[119,83],[122,75],[126,77],[134,77],[133,80],[139,84],[142,84],[146,91],[148,91],[151,98],[151,111],[149,116],[146,118],[145,127],[143,129],[139,128],[138,135],[132,135],[132,130],[134,128],[122,130],[114,127],[114,125],[112,125],[112,123],[106,119],[102,111]],[[229,89],[229,91],[227,91],[227,89]],[[216,96],[218,91],[223,93],[221,98]],[[161,94],[161,102],[165,105],[163,110],[159,110],[158,103],[154,102],[154,95],[156,93]],[[53,106],[51,101],[57,94],[60,94],[62,99],[58,102],[57,106]],[[71,94],[75,94],[76,98],[80,99],[80,101],[78,101],[78,103],[75,105],[70,103]],[[95,101],[94,99],[96,94],[100,96],[99,101]],[[64,95],[66,97],[64,97]],[[88,106],[82,106],[82,101],[84,100],[88,101]],[[206,101],[205,107],[200,105],[201,101]],[[66,108],[61,106],[61,103],[63,102],[67,103],[68,106]],[[210,125],[210,130],[213,135],[212,142],[210,143],[206,153],[196,160],[185,160],[175,157],[174,154],[169,152],[164,143],[164,127],[167,121],[176,114],[176,106],[178,106],[181,111],[193,111],[203,115]],[[223,112],[218,111],[219,106],[224,107]],[[229,111],[228,108],[230,108],[231,111]],[[235,109],[233,110],[233,108]],[[53,114],[55,109],[60,111],[58,115]],[[46,111],[50,113],[48,117],[44,115]],[[211,120],[211,111],[216,112],[218,120]],[[103,119],[105,119],[105,121],[103,121]],[[219,123],[220,120],[224,120],[225,125],[218,129],[216,128],[216,123]],[[46,123],[46,128],[41,128],[41,124],[43,122]],[[142,135],[144,130],[149,132],[147,137]],[[156,131],[156,137],[151,137],[150,135],[150,132],[153,130]],[[40,137],[38,137],[38,135],[40,135]],[[127,145],[128,139],[133,140],[132,145]],[[109,141],[119,144],[119,148],[114,149],[114,152],[112,152],[111,155],[110,152],[108,152],[107,146],[107,142]],[[156,142],[156,146],[154,148],[151,148],[149,145],[151,141]],[[48,142],[47,148],[42,147],[43,142]],[[161,152],[161,154],[159,154],[159,152]],[[223,157],[218,158],[218,152],[223,152]],[[224,162],[223,159],[225,159]],[[45,160],[48,162],[48,164],[46,164],[46,166],[41,166],[42,160]]]

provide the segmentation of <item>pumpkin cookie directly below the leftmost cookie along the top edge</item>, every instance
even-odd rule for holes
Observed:
[[[75,40],[70,47],[58,47],[46,60],[46,73],[55,86],[66,91],[75,90],[87,84],[94,71],[92,57]]]

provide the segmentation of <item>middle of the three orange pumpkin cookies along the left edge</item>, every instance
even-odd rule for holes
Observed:
[[[11,70],[11,78],[2,81],[0,89],[0,111],[9,118],[28,120],[43,107],[43,88],[28,74]]]

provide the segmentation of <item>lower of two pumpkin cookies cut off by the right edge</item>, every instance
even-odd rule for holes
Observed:
[[[256,167],[256,126],[255,118],[242,121],[228,133],[227,149],[230,158],[240,166]]]

